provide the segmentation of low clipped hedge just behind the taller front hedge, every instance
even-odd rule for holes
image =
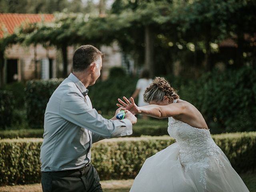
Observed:
[[[161,136],[167,133],[167,120],[141,120],[133,126],[132,137],[141,135]],[[0,139],[4,138],[42,138],[44,130],[41,129],[21,129],[0,131]]]

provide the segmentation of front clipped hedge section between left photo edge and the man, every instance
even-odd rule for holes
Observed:
[[[0,140],[0,184],[38,183],[42,139]]]

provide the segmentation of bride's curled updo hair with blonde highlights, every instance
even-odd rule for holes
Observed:
[[[180,98],[176,90],[163,77],[155,77],[154,81],[146,88],[143,96],[146,103],[151,101],[161,102],[164,100],[164,96],[171,100]]]

